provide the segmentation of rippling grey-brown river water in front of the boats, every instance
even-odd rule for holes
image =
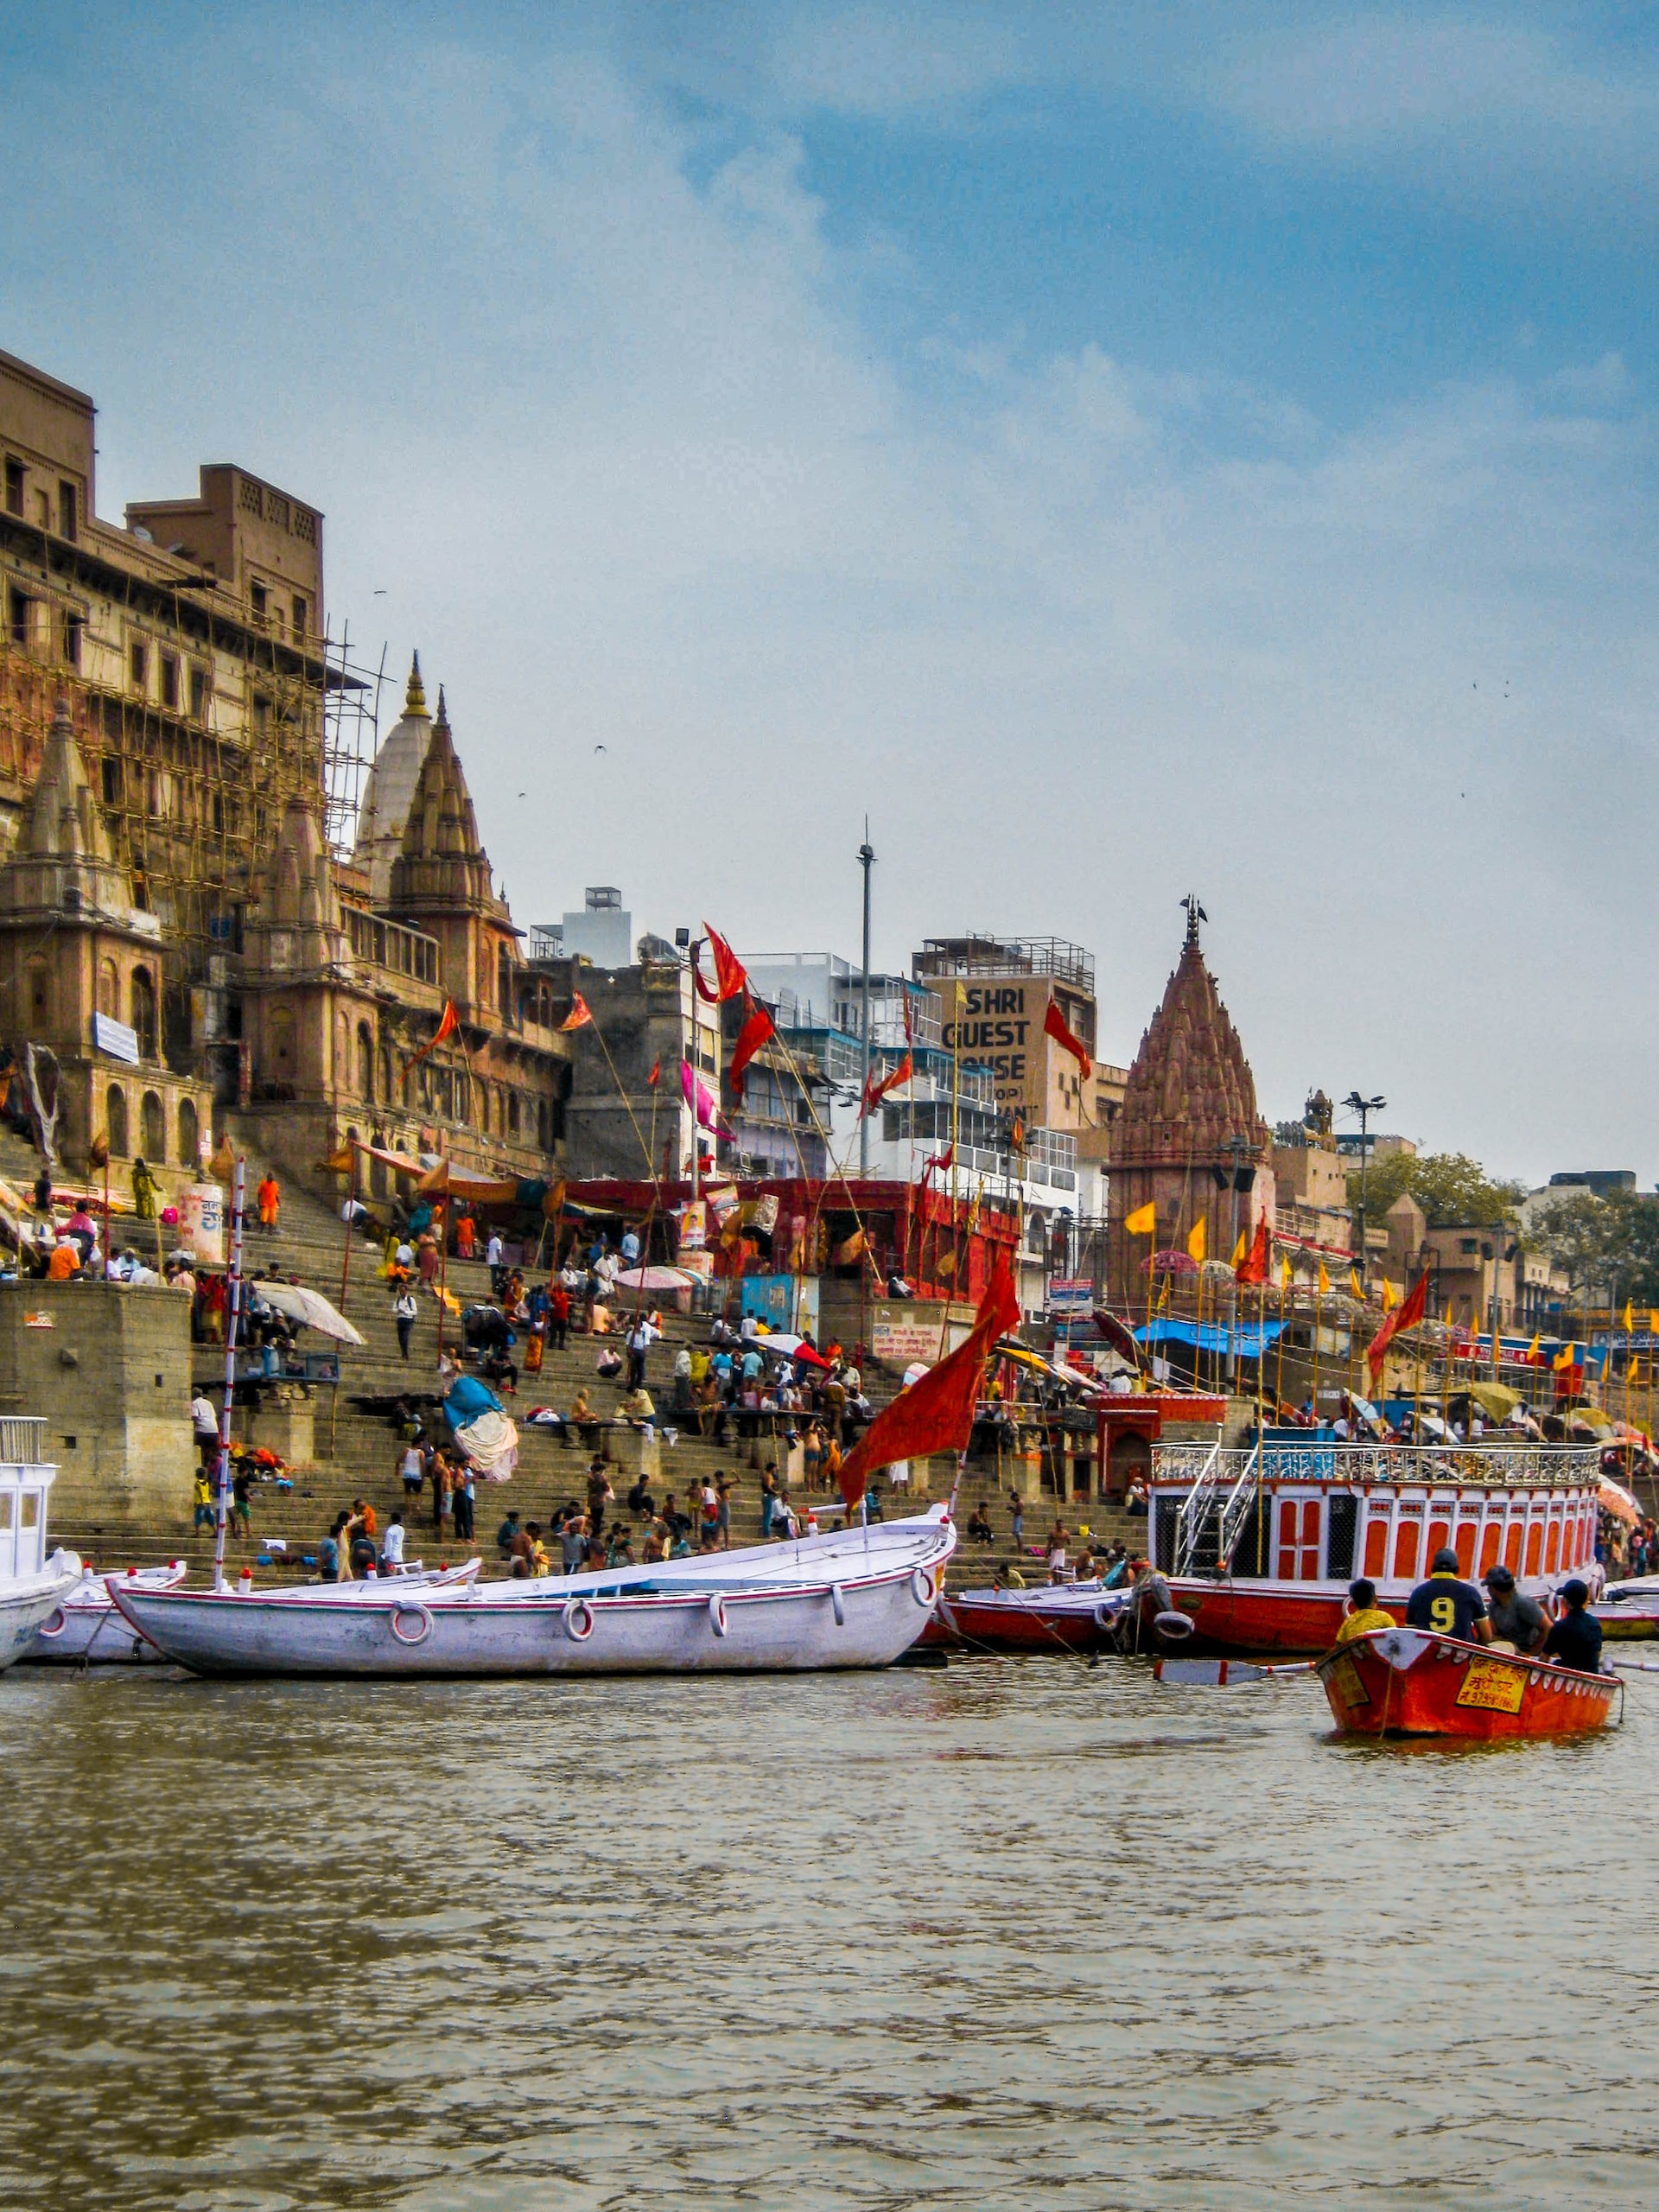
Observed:
[[[1659,1677],[0,1677],[0,2203],[1650,2205]]]

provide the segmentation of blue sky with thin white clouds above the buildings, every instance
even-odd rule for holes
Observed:
[[[449,690],[520,922],[1091,945],[1270,1115],[1659,1175],[1628,7],[9,11],[0,345]],[[604,752],[595,748],[604,745]]]

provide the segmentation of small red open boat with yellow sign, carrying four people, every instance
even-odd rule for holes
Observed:
[[[1619,1694],[1608,1674],[1460,1644],[1422,1628],[1374,1628],[1318,1661],[1345,1736],[1586,1736]]]

